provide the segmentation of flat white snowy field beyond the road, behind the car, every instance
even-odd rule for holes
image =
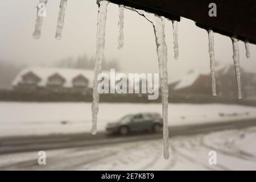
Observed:
[[[89,132],[91,104],[0,102],[0,137]],[[100,104],[98,130],[126,114],[162,113],[161,104]],[[256,118],[256,107],[225,104],[169,104],[169,125]]]

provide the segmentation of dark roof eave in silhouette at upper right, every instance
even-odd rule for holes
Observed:
[[[222,35],[236,35],[240,40],[256,44],[256,1],[251,0],[109,0],[142,9],[172,20],[180,16],[197,22],[201,28],[212,28]],[[216,3],[217,16],[208,15],[209,3]]]

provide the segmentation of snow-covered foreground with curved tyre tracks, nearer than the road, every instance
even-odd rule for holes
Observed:
[[[163,159],[161,140],[46,151],[46,166],[37,152],[0,155],[0,169],[33,170],[256,170],[256,127],[219,131],[170,140]],[[210,165],[209,151],[216,151]]]

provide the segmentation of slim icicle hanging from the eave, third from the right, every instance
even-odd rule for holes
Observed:
[[[217,96],[216,92],[216,78],[215,78],[215,71],[214,71],[214,37],[213,31],[208,30],[209,35],[209,55],[210,55],[210,75],[212,77],[212,94],[213,96]]]

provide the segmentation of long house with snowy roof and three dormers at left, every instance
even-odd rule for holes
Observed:
[[[110,72],[103,71],[107,75]],[[12,82],[14,89],[89,91],[93,88],[92,69],[71,69],[52,67],[29,67],[18,73]]]

